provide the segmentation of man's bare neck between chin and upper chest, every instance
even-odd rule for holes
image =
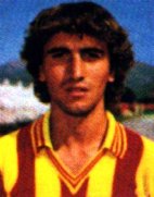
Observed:
[[[97,149],[107,127],[107,118],[102,102],[90,114],[81,118],[68,115],[53,106],[50,121],[51,139],[55,150],[63,146]]]

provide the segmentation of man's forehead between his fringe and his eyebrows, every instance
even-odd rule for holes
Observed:
[[[67,47],[67,48],[84,48],[84,47],[97,47],[106,48],[104,41],[100,41],[95,37],[89,35],[57,33],[52,36],[44,46],[44,49],[53,47]]]

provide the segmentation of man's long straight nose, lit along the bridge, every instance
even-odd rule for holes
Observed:
[[[85,77],[85,63],[79,54],[72,57],[69,74],[73,79],[80,81]]]

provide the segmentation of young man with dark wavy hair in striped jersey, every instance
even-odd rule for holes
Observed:
[[[108,112],[133,65],[111,13],[92,2],[44,10],[22,58],[51,110],[1,137],[1,196],[154,196],[154,143]]]

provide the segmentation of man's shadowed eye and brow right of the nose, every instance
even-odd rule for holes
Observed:
[[[104,51],[97,48],[82,49],[81,57],[86,61],[95,61],[104,57]]]

